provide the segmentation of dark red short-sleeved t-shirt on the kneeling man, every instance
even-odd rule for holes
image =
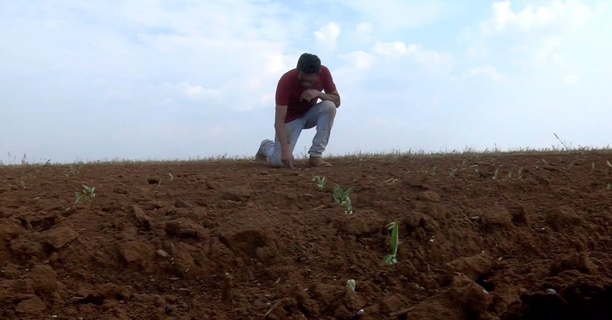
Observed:
[[[304,88],[302,83],[299,82],[297,79],[297,69],[291,69],[280,77],[276,88],[276,104],[287,106],[285,123],[296,120],[304,115],[318,101],[318,98],[311,101],[300,101],[302,93],[310,89],[323,91],[324,93],[336,90],[332,74],[326,66],[321,66],[321,72],[319,72],[316,82],[310,88]]]

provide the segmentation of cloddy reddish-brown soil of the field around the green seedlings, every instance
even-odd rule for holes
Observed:
[[[608,159],[592,151],[353,157],[295,170],[248,161],[0,167],[0,314],[610,319]],[[313,175],[326,176],[323,189]],[[334,183],[353,187],[353,215],[334,204]],[[95,186],[95,197],[75,204],[82,185]],[[397,263],[385,265],[394,219]]]

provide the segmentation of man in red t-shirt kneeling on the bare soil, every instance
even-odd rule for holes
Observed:
[[[324,91],[324,92],[323,92]],[[318,102],[321,99],[321,102]],[[272,166],[293,169],[293,150],[303,129],[316,127],[308,163],[315,167],[331,164],[322,158],[334,125],[340,95],[332,75],[318,56],[304,53],[297,66],[280,77],[276,88],[275,139],[259,145],[257,160],[270,159]]]

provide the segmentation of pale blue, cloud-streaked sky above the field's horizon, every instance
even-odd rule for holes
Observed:
[[[253,156],[305,52],[341,96],[324,155],[606,147],[611,15],[607,0],[0,0],[0,161]]]

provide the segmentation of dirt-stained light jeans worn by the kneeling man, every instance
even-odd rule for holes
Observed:
[[[287,134],[287,143],[293,153],[296,147],[297,139],[300,137],[303,129],[310,129],[316,126],[316,134],[312,139],[312,147],[308,150],[308,154],[312,157],[320,157],[327,147],[329,134],[334,126],[334,118],[336,116],[336,105],[332,101],[321,101],[313,105],[304,115],[296,120],[285,123],[285,132]],[[275,135],[274,141],[266,139],[261,142],[261,151],[274,167],[284,167],[285,164],[280,160],[280,141]]]

